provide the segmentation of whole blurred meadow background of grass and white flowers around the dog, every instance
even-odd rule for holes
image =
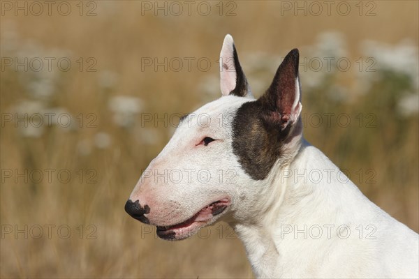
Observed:
[[[0,4],[1,278],[253,277],[226,224],[168,242],[124,212],[219,98],[226,33],[255,96],[299,48],[305,137],[418,232],[418,1]]]

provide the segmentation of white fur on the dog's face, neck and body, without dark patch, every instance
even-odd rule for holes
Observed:
[[[222,51],[221,56],[230,55],[232,43],[233,38],[226,37],[223,50],[228,53]],[[221,75],[223,95],[232,86],[232,77]],[[297,116],[299,100],[297,96],[293,104]],[[251,179],[233,153],[232,121],[237,109],[252,101],[223,96],[182,121],[150,163],[154,175],[145,172],[131,193],[132,201],[151,208],[145,214],[149,222],[182,223],[207,204],[228,197],[230,206],[211,223],[226,220],[235,229],[258,278],[418,278],[418,234],[370,202],[321,151],[302,139],[301,132],[282,147],[283,155],[266,179]],[[205,119],[211,120],[208,125]],[[216,141],[197,145],[204,137]],[[193,169],[195,175],[176,182],[156,179],[156,170],[163,174],[165,169],[184,174]],[[211,174],[207,183],[196,176],[202,169]],[[234,183],[227,181],[228,170],[235,173]],[[346,239],[344,232],[338,233],[339,226],[350,229]],[[295,235],[296,229],[300,233]],[[234,256],[231,253],[225,256]]]

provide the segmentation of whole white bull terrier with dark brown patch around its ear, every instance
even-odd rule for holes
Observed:
[[[258,278],[418,278],[418,234],[303,139],[298,61],[255,100],[227,35],[222,97],[181,120],[126,211],[169,240],[225,220]]]

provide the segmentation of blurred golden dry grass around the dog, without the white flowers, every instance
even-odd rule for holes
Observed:
[[[76,2],[68,3],[77,9]],[[217,98],[200,92],[200,84],[207,77],[214,77],[216,82],[212,86],[218,90],[215,61],[226,33],[232,33],[236,40],[245,72],[249,66],[244,61],[251,59],[253,53],[284,55],[293,47],[313,45],[324,31],[342,33],[348,43],[348,57],[353,60],[360,56],[363,40],[397,44],[408,38],[418,47],[419,39],[417,1],[375,1],[376,15],[369,17],[358,15],[355,1],[347,2],[353,9],[348,16],[341,16],[334,9],[330,16],[293,15],[292,12],[281,15],[280,1],[237,1],[236,15],[230,17],[219,16],[218,10],[208,16],[194,11],[191,16],[156,17],[148,12],[142,16],[140,1],[96,3],[97,15],[93,17],[80,16],[77,12],[66,17],[57,13],[15,16],[10,12],[1,16],[2,43],[10,39],[6,33],[12,28],[19,36],[12,50],[6,50],[3,45],[2,58],[17,55],[15,52],[29,48],[30,42],[42,48],[42,51],[33,50],[35,56],[54,56],[54,51],[59,50],[71,58],[71,70],[59,72],[54,95],[46,105],[65,107],[73,116],[82,114],[84,121],[89,120],[90,113],[97,116],[96,128],[87,127],[86,122],[82,128],[70,131],[46,127],[41,137],[22,137],[13,124],[2,122],[2,232],[9,226],[24,230],[27,225],[29,235],[27,239],[24,233],[2,235],[1,278],[252,277],[242,244],[234,235],[227,237],[231,232],[228,226],[217,224],[201,236],[172,243],[156,239],[154,229],[135,222],[124,212],[124,203],[141,169],[163,148],[172,128],[148,125],[152,130],[145,130],[138,125],[138,117],[133,128],[119,128],[112,122],[108,100],[112,96],[136,96],[144,103],[142,112],[163,115],[190,112]],[[207,3],[217,9],[218,2]],[[198,70],[196,64],[191,71],[185,68],[179,72],[165,72],[161,68],[142,71],[142,57],[163,59],[165,56],[169,59],[208,57],[212,67],[207,72]],[[97,72],[78,70],[75,60],[79,57],[94,57]],[[263,76],[265,80],[270,80],[278,64],[279,61],[270,61],[267,68],[271,73]],[[116,73],[117,82],[105,89],[98,79],[106,71]],[[10,67],[1,70],[2,117],[21,100],[31,98],[27,84],[22,81],[22,76],[30,74],[18,73]],[[304,77],[315,74],[307,71],[300,75],[304,82]],[[259,76],[256,72],[248,74],[250,84],[256,83]],[[352,85],[356,79],[352,72],[339,73],[339,79],[349,89],[356,87]],[[260,93],[255,92],[256,96]],[[348,94],[352,96],[351,92]],[[348,169],[355,183],[376,204],[418,232],[417,114],[407,120],[397,118],[395,107],[382,105],[379,94],[357,97],[356,101],[338,108],[321,96],[303,95],[304,112],[343,110],[352,117],[373,113],[378,116],[378,126],[368,129],[309,125],[304,132],[307,140],[339,167]],[[96,147],[97,133],[110,135],[110,146]],[[154,143],[137,140],[142,133],[156,133]],[[89,155],[78,152],[80,142],[91,145]],[[39,183],[31,179],[25,182],[22,178],[15,182],[15,174],[6,178],[4,169],[19,173],[41,169],[44,174],[45,169],[55,169],[54,173],[66,169],[72,179],[61,183],[57,176],[52,176],[52,181],[44,177]],[[81,183],[80,169],[84,174]],[[96,171],[95,183],[87,183],[89,169]],[[364,174],[362,179],[355,174],[358,169]],[[374,183],[365,179],[368,169],[376,172]],[[33,237],[37,235],[37,225],[43,227],[40,239]],[[55,226],[51,237],[47,235],[47,225]],[[60,225],[71,229],[68,239],[58,234]],[[82,229],[82,235],[78,229]],[[89,232],[94,239],[88,237]],[[211,232],[208,239],[207,232]]]

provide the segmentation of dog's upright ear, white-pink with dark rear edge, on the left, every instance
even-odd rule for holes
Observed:
[[[233,37],[230,34],[224,38],[220,53],[220,85],[223,96],[251,96],[249,84],[239,63]]]

